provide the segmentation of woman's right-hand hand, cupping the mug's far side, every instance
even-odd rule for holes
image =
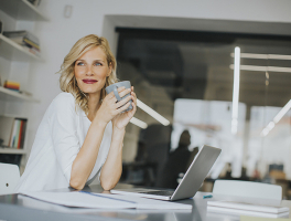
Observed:
[[[130,99],[132,99],[132,102],[131,102],[131,105],[132,105],[132,109],[131,110],[129,110],[129,112],[125,112],[125,113],[121,113],[120,112],[120,114],[118,114],[114,119],[112,119],[112,125],[114,125],[114,128],[117,128],[117,129],[123,129],[127,125],[128,125],[128,123],[129,123],[129,120],[133,117],[133,115],[134,115],[134,113],[137,112],[137,95],[136,95],[136,93],[133,92],[133,86],[131,86],[131,90],[130,90],[131,92],[130,92],[130,96],[128,96],[128,97],[130,97]],[[125,95],[123,95],[125,96]],[[121,95],[120,95],[120,97],[121,97]],[[127,97],[127,98],[128,98]],[[127,99],[126,98],[126,99]],[[121,102],[121,101],[120,101]],[[120,103],[120,102],[118,102],[118,103]],[[125,107],[125,109],[127,109],[128,107],[129,107],[129,105],[130,105],[130,102],[128,102],[123,107]],[[121,105],[122,106],[122,105]],[[121,109],[121,108],[120,108]]]

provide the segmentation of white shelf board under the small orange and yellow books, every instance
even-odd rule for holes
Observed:
[[[13,92],[2,86],[0,86],[0,99],[7,102],[19,102],[19,101],[35,102],[35,103],[40,102],[39,99],[35,99],[32,96],[28,96],[19,92]]]

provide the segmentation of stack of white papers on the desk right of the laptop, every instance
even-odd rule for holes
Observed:
[[[207,211],[267,218],[279,218],[289,215],[289,208],[285,207],[271,207],[234,201],[207,201]]]

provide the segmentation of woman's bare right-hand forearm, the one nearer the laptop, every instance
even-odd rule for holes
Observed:
[[[112,189],[120,179],[122,172],[122,145],[125,133],[125,128],[114,129],[111,146],[100,175],[100,185],[105,190]]]

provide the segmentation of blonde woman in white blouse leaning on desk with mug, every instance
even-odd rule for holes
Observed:
[[[64,59],[57,95],[47,108],[15,191],[73,187],[98,178],[105,190],[121,176],[125,128],[137,109],[133,87],[118,88],[117,103],[105,87],[116,83],[116,59],[105,38],[78,40]],[[121,113],[130,105],[130,112]],[[125,105],[125,106],[123,106]]]

